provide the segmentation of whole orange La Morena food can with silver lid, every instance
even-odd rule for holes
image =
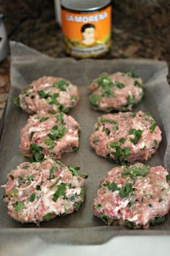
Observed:
[[[104,57],[111,46],[112,0],[62,0],[66,54],[78,59]]]

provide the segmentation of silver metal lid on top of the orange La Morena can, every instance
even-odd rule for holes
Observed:
[[[61,6],[76,12],[93,12],[107,7],[112,0],[62,0]]]

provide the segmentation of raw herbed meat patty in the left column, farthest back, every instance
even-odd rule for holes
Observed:
[[[19,94],[19,106],[28,114],[42,109],[67,113],[78,101],[76,85],[61,77],[41,77]]]

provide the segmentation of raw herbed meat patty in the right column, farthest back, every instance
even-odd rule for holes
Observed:
[[[143,98],[143,81],[132,72],[102,74],[89,85],[90,103],[104,112],[128,111]]]

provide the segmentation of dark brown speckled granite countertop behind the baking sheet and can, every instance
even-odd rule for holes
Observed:
[[[63,35],[61,27],[55,21],[53,1],[35,1],[37,4],[33,2],[3,2],[0,11],[4,13],[9,39],[21,41],[49,56],[65,57]],[[14,5],[17,4],[19,9],[13,12]],[[159,59],[167,61],[170,67],[169,19],[166,10],[159,12],[159,9],[154,9],[149,10],[148,14],[143,12],[145,15],[135,16],[134,10],[122,12],[120,7],[115,4],[113,8],[112,49],[107,59]],[[6,95],[4,98],[0,95],[0,98],[3,109]]]

